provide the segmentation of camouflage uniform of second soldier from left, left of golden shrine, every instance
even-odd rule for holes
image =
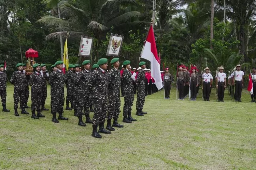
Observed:
[[[14,85],[13,100],[14,109],[18,108],[20,100],[21,108],[25,108],[26,95],[25,95],[25,84],[27,84],[27,78],[23,71],[14,71],[10,80],[10,83]]]

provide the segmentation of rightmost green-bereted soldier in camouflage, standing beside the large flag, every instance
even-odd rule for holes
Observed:
[[[141,69],[139,70],[136,83],[137,83],[137,102],[136,102],[136,115],[137,116],[144,116],[144,114],[147,114],[146,112],[143,112],[143,106],[145,102],[145,71],[146,68],[146,62],[140,62],[139,66]]]

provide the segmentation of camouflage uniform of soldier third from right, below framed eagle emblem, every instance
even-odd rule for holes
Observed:
[[[120,109],[120,85],[121,77],[120,71],[112,68],[108,72],[109,78],[109,105],[108,105],[108,116],[107,119],[117,119],[119,116]]]

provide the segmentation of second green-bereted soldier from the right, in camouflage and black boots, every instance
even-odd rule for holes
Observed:
[[[131,121],[137,121],[136,119],[133,119],[131,117],[131,107],[133,105],[134,101],[134,89],[132,85],[132,79],[131,72],[129,71],[130,68],[130,61],[126,60],[123,63],[123,67],[125,67],[123,72],[123,92],[124,92],[124,98],[125,98],[125,104],[124,104],[124,119],[123,122],[125,123],[131,123]]]

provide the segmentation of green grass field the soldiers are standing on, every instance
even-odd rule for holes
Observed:
[[[120,116],[125,127],[101,139],[91,137],[90,124],[78,126],[73,111],[60,123],[51,122],[49,111],[40,119],[31,119],[30,109],[15,117],[13,86],[7,93],[11,112],[0,111],[0,169],[256,169],[256,103],[247,91],[242,103],[227,93],[225,102],[215,102],[214,89],[210,102],[200,94],[198,101],[174,100],[174,88],[164,100],[160,91],[146,97],[147,115],[135,116],[134,101],[138,121],[123,123]]]

